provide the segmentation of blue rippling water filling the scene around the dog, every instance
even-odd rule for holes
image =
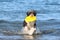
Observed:
[[[42,35],[5,33],[20,31],[26,12],[31,9],[37,12],[36,23]],[[0,0],[0,40],[9,39],[60,40],[60,0]]]

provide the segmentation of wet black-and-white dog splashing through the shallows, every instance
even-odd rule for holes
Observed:
[[[29,11],[29,12],[27,12],[27,16],[36,16],[36,12]],[[24,26],[23,32],[27,33],[29,35],[32,35],[36,31],[36,20],[32,21],[32,22],[28,22],[28,23],[24,20],[23,26]]]

